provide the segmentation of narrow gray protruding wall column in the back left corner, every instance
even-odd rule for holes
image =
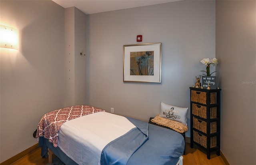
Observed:
[[[86,14],[65,8],[65,107],[86,101]]]

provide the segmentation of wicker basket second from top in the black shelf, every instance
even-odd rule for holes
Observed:
[[[192,103],[192,114],[206,119],[206,107]],[[217,118],[217,107],[210,108],[210,119]]]

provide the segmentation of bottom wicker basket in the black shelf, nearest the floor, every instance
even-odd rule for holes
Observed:
[[[193,131],[193,139],[196,143],[202,145],[203,147],[207,148],[207,137],[196,132],[196,131]],[[211,137],[210,138],[210,148],[212,147],[216,147],[217,146],[217,137],[214,136],[214,137]]]

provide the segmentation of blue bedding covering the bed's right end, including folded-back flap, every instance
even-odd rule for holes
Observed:
[[[184,152],[180,133],[128,118],[137,128],[102,150],[101,165],[170,165]]]

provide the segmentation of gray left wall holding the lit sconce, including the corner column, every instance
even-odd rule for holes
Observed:
[[[68,31],[65,9],[51,0],[0,1],[1,24],[18,29],[20,38],[19,50],[0,48],[0,162],[38,143],[32,133],[44,113],[85,104],[86,58],[80,51],[86,46],[86,14],[72,10],[74,30]],[[74,47],[68,64],[65,40]],[[65,94],[70,89],[71,103]]]

